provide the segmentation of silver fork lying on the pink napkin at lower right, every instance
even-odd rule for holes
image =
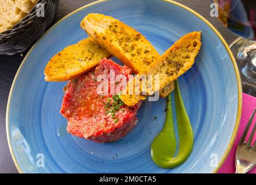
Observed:
[[[251,114],[251,118],[243,131],[243,135],[236,149],[236,173],[247,173],[256,165],[256,142],[254,143],[254,146],[251,146],[251,141],[253,140],[256,130],[256,123],[253,127],[253,131],[251,131],[248,142],[245,142],[246,135],[251,127],[251,123],[253,122],[255,112],[256,109],[254,109],[253,114]]]

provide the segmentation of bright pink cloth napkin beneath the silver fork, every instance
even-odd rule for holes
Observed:
[[[251,114],[253,113],[255,108],[256,108],[256,98],[243,93],[242,116],[241,116],[241,120],[240,120],[239,130],[237,132],[236,140],[235,140],[235,143],[234,143],[228,157],[226,158],[226,161],[221,166],[218,173],[235,173],[236,172],[236,165],[235,165],[236,148],[237,148],[239,140],[243,134],[244,128],[246,127],[246,124],[247,124],[248,120],[250,119]],[[256,121],[256,116],[254,117],[254,121],[251,124],[250,129],[253,129],[253,125],[254,125],[255,121]],[[251,130],[250,130],[250,132],[251,132]],[[250,135],[250,132],[249,132],[249,135]],[[254,135],[253,142],[254,142],[255,138],[256,138],[256,136]],[[247,135],[246,139],[248,139],[248,135]],[[256,173],[256,167],[248,173]]]

